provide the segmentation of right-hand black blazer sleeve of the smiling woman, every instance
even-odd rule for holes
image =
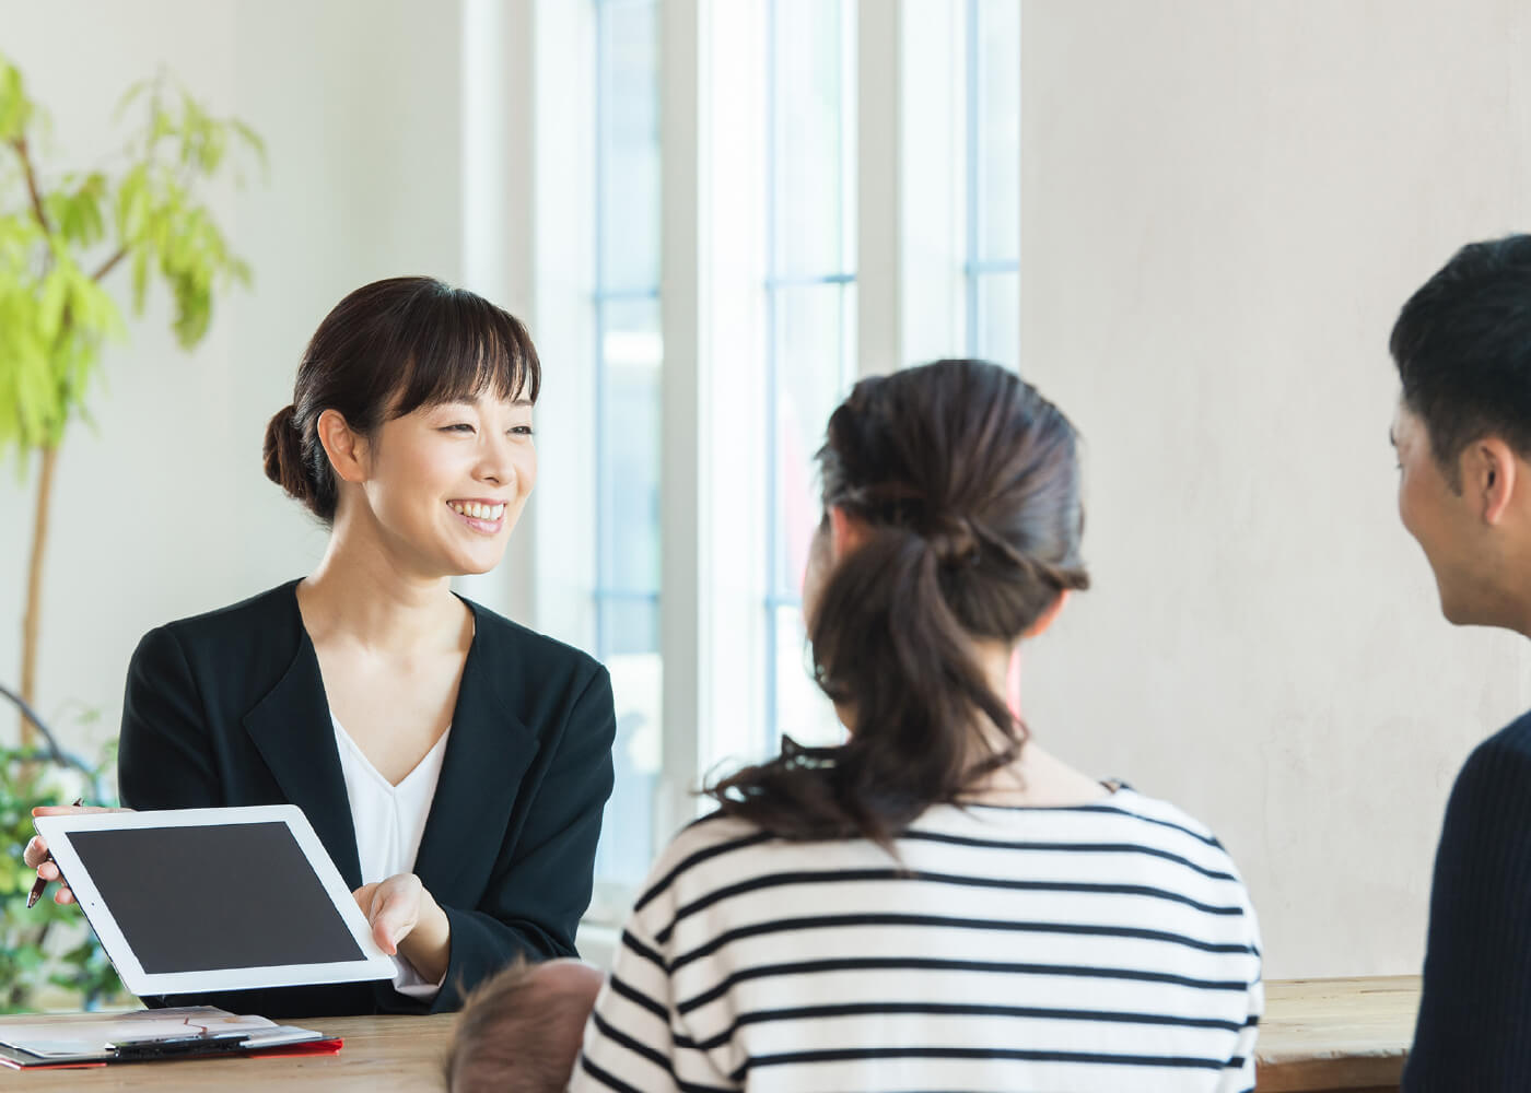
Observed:
[[[556,738],[519,839],[496,862],[473,909],[444,908],[452,957],[430,1012],[455,1010],[462,995],[517,955],[576,957],[574,934],[589,906],[600,821],[611,796],[617,715],[611,677],[596,667]]]

